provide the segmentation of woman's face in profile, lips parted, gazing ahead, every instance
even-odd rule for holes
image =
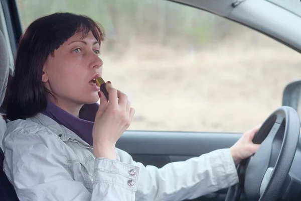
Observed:
[[[54,51],[54,56],[48,56],[42,81],[60,103],[83,105],[98,101],[99,87],[91,80],[102,74],[99,49],[91,32],[84,39],[82,34],[75,34]]]

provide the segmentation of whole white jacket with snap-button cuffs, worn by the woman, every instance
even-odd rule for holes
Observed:
[[[95,158],[92,146],[42,114],[7,126],[4,171],[21,201],[177,201],[238,182],[229,149],[159,169],[119,149],[116,161]]]

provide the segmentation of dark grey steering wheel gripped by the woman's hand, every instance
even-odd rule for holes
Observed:
[[[297,112],[282,106],[262,124],[253,138],[257,152],[237,166],[239,183],[229,187],[226,201],[237,201],[244,192],[248,200],[277,200],[289,184],[288,172],[300,133]]]

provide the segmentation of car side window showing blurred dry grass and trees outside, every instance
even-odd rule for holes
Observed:
[[[103,78],[126,93],[129,130],[243,132],[301,78],[294,50],[240,24],[164,0],[18,0],[23,28],[54,12],[103,25]],[[288,22],[289,23],[289,22]]]

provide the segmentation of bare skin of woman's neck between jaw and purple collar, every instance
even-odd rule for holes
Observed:
[[[63,109],[67,113],[75,117],[79,117],[79,111],[82,108],[82,104],[71,102],[70,100],[66,100],[63,98],[57,98],[57,101],[54,98],[50,98],[50,101],[55,104],[57,107]]]

